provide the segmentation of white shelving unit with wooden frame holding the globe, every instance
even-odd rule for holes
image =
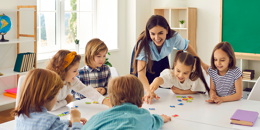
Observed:
[[[28,8],[33,8],[33,9],[28,9]],[[37,28],[37,13],[36,13],[36,5],[29,5],[29,6],[17,6],[17,10],[0,10],[0,11],[16,11],[17,12],[17,38],[16,39],[9,39],[8,42],[0,42],[0,46],[3,45],[3,44],[16,44],[16,48],[17,48],[17,51],[14,52],[14,53],[20,53],[20,50],[19,50],[19,46],[20,46],[20,43],[23,44],[23,43],[27,43],[27,42],[34,42],[34,53],[36,53],[36,57],[35,57],[35,64],[34,64],[34,68],[36,68],[36,64],[37,64],[37,44],[36,44],[36,35],[37,35],[37,31],[36,31],[36,28]],[[34,35],[26,35],[26,34],[20,34],[20,12],[21,11],[30,11],[30,12],[34,12]],[[31,38],[34,38],[34,40],[28,40],[28,39],[19,39],[20,37],[31,37]],[[4,53],[4,55],[1,55],[1,59],[0,61],[3,59],[3,57],[6,56],[6,53],[8,51],[10,51],[10,48],[12,47],[12,45],[9,47],[9,49],[6,49],[6,52]],[[16,59],[14,59],[16,60]],[[4,62],[4,61],[2,61]],[[12,76],[12,75],[17,75],[17,81],[18,81],[18,78],[19,78],[19,75],[20,74],[25,74],[27,73],[28,71],[26,72],[15,72],[14,71],[14,66],[10,66],[10,68],[1,68],[0,66],[0,72],[3,73],[3,75],[0,76],[0,78],[2,77],[7,77],[7,76]],[[16,102],[16,99],[15,98],[12,98],[12,97],[8,97],[8,96],[4,96],[3,93],[0,93],[0,107],[1,110],[3,109],[11,109],[13,108],[12,106],[9,106],[8,104],[10,103],[15,103]],[[4,105],[4,108],[3,108],[3,105]],[[8,108],[5,108],[5,107],[8,107]],[[11,108],[9,108],[11,107]]]

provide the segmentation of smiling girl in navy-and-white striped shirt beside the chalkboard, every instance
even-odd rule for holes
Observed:
[[[236,57],[228,42],[218,43],[211,55],[211,66],[207,70],[210,76],[211,99],[209,103],[236,101],[243,99],[242,72],[236,66]]]

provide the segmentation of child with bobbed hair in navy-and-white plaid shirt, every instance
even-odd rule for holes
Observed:
[[[91,39],[85,48],[84,62],[86,66],[78,70],[77,77],[86,86],[92,86],[101,95],[107,94],[107,83],[111,78],[110,68],[105,65],[106,44],[98,38]],[[86,98],[82,94],[75,92],[73,89],[70,92],[74,99],[80,100]]]

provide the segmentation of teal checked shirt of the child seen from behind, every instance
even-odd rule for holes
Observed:
[[[122,103],[92,116],[82,130],[155,130],[164,125],[160,115],[132,103]]]

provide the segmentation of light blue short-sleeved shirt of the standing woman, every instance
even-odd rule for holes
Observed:
[[[169,55],[173,48],[177,48],[178,50],[186,50],[188,48],[188,43],[190,41],[187,39],[183,39],[181,35],[178,33],[176,36],[170,38],[169,40],[164,40],[164,45],[161,48],[161,53],[159,54],[155,44],[153,41],[148,40],[149,47],[152,51],[153,59],[159,61]],[[148,61],[145,60],[144,50],[142,49],[135,60],[142,60],[146,63]]]

